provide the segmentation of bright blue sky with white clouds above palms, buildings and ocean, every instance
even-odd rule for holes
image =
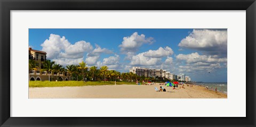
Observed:
[[[29,46],[58,64],[132,66],[185,73],[193,81],[227,81],[226,29],[29,29]]]

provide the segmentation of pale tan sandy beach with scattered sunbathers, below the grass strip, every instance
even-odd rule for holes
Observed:
[[[157,92],[163,86],[166,92]],[[181,86],[181,85],[179,85]],[[227,98],[227,94],[193,86],[185,89],[159,85],[104,85],[29,88],[29,98]]]

